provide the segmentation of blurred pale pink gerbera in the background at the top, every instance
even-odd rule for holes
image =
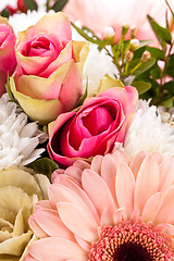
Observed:
[[[173,8],[172,0],[169,2]],[[137,26],[138,39],[156,40],[147,15],[164,26],[166,10],[165,0],[158,0],[158,3],[156,0],[69,0],[63,11],[72,21],[80,21],[82,25],[101,36],[105,26],[112,26],[117,41],[124,23]]]

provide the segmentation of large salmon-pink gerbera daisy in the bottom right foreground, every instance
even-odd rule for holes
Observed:
[[[122,150],[55,171],[25,261],[174,260],[174,158]]]

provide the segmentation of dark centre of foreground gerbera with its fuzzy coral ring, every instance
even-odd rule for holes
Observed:
[[[99,240],[91,244],[90,261],[174,260],[172,239],[151,223],[122,221],[102,226]]]

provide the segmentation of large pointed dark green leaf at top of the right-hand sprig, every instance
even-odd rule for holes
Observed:
[[[163,46],[163,41],[165,41],[171,45],[172,36],[170,30],[160,26],[150,15],[148,15],[148,20],[160,44]]]

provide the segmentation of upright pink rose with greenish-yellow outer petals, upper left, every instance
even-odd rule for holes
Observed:
[[[72,41],[67,16],[45,15],[18,34],[15,50],[17,67],[10,86],[30,120],[44,125],[74,109],[83,94],[87,44]]]

